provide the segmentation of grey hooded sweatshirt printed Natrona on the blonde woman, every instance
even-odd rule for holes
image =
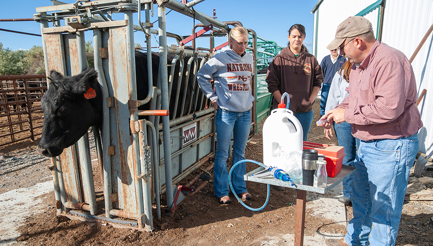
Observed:
[[[206,97],[211,101],[216,99],[221,109],[245,112],[252,107],[254,100],[249,83],[252,74],[252,56],[245,52],[241,57],[230,47],[225,47],[200,68],[197,82]]]

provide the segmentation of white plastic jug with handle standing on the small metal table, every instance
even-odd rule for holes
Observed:
[[[292,151],[302,151],[303,131],[301,123],[291,110],[274,109],[263,124],[263,164],[278,167],[284,171],[281,164],[281,152],[286,155]]]

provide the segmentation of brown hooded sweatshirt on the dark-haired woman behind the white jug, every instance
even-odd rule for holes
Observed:
[[[293,113],[309,112],[313,105],[309,101],[309,96],[314,86],[321,88],[323,72],[319,62],[305,51],[304,46],[298,57],[286,47],[269,65],[266,82],[269,92],[279,90],[281,95],[284,92],[289,94],[289,109]],[[274,98],[274,108],[277,108],[278,103]]]

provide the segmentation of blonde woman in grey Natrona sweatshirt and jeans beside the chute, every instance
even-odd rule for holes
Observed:
[[[251,126],[252,56],[246,52],[248,32],[235,27],[229,34],[230,47],[206,62],[197,73],[197,82],[202,92],[216,109],[216,155],[214,164],[214,190],[220,203],[230,203],[227,158],[233,134],[233,161],[245,159],[245,147]],[[215,91],[211,80],[214,79]],[[245,163],[232,172],[234,192],[241,199],[251,199],[244,181]]]

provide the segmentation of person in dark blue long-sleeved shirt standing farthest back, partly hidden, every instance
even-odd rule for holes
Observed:
[[[320,93],[320,117],[325,114],[326,100],[328,99],[328,92],[329,88],[331,88],[332,79],[344,62],[346,62],[346,59],[338,54],[338,48],[331,50],[331,54],[324,57],[322,62],[320,62],[324,78],[322,83],[322,92]]]

